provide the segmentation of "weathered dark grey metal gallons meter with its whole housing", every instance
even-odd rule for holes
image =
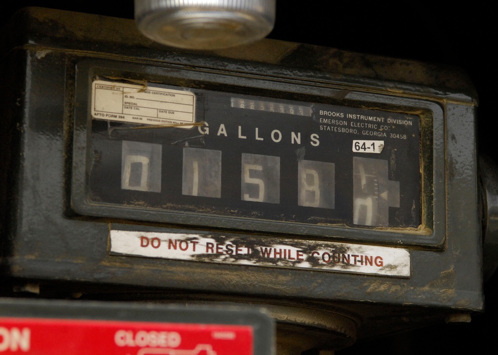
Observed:
[[[39,8],[11,23],[13,289],[257,304],[288,355],[483,309],[477,101],[455,68],[273,40],[171,49]]]

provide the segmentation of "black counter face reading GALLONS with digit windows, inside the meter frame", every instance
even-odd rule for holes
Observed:
[[[76,203],[134,207],[137,219],[140,210],[164,211],[158,221],[172,211],[209,214],[210,226],[223,225],[215,216],[398,230],[421,224],[417,115],[242,88],[95,79],[89,90],[88,181]]]

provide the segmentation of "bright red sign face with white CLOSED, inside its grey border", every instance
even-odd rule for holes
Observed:
[[[245,325],[0,317],[0,354],[253,355]]]

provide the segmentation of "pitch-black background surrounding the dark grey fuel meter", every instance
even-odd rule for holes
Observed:
[[[132,0],[53,1],[19,0],[2,4],[6,20],[23,6],[42,6],[133,17]],[[304,7],[306,6],[306,7]],[[498,161],[494,147],[493,105],[497,93],[495,65],[495,11],[478,3],[418,2],[365,6],[356,1],[277,0],[275,29],[270,38],[335,47],[390,57],[435,62],[462,67],[474,82],[480,99],[478,109],[479,149]],[[486,285],[486,307],[470,324],[442,324],[387,339],[359,343],[339,354],[466,354],[484,346],[494,353],[498,326],[498,279]],[[483,349],[484,350],[484,349]]]

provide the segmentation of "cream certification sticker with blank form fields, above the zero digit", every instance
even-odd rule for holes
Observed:
[[[92,86],[92,117],[139,124],[187,124],[195,121],[195,95],[165,89],[96,80]]]

